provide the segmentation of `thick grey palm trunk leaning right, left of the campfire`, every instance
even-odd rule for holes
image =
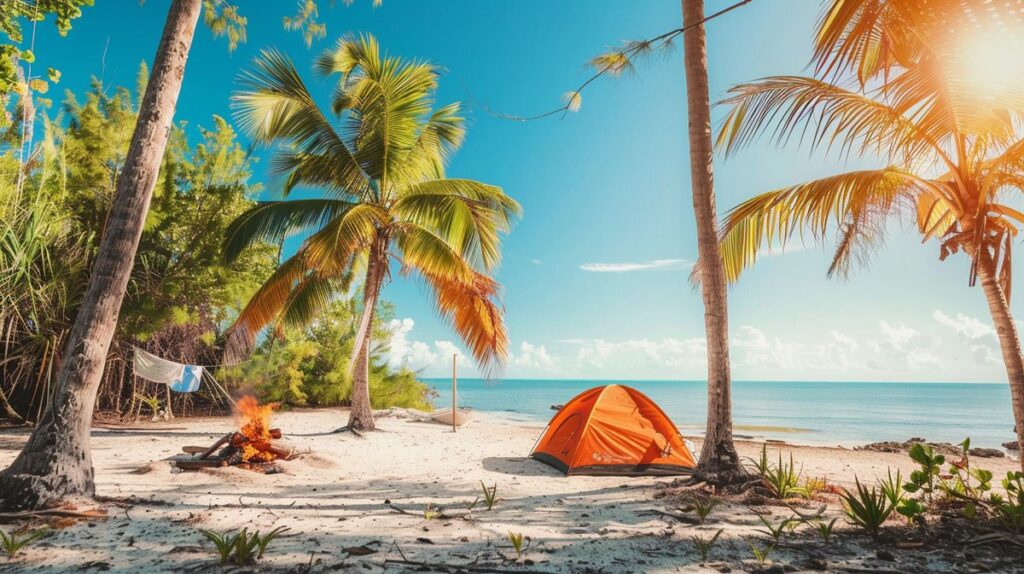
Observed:
[[[17,458],[0,473],[0,506],[34,509],[95,493],[89,430],[96,391],[167,145],[201,5],[202,0],[171,4],[52,400]]]

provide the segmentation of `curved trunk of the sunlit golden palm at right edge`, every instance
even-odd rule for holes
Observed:
[[[1006,365],[1007,379],[1010,381],[1010,401],[1014,409],[1017,448],[1018,452],[1024,453],[1024,358],[1021,357],[1020,336],[1014,317],[1010,314],[1010,303],[995,276],[994,262],[987,253],[982,253],[978,259],[978,278],[981,280],[985,299],[988,300],[988,311],[995,324],[999,347],[1002,349],[1002,363]],[[1024,471],[1024,455],[1021,456],[1021,470]]]

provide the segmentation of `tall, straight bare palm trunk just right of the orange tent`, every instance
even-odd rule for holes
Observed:
[[[682,0],[683,26],[703,19],[703,0]],[[732,444],[732,399],[729,372],[729,316],[725,272],[718,246],[708,94],[708,49],[703,26],[684,33],[686,100],[690,137],[690,181],[700,257],[700,288],[708,336],[708,430],[700,448],[697,475],[715,484],[733,482],[741,474]]]

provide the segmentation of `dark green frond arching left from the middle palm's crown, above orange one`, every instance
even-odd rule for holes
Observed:
[[[276,244],[288,235],[324,227],[356,204],[338,200],[264,202],[240,215],[224,232],[223,257],[233,262],[254,244]]]

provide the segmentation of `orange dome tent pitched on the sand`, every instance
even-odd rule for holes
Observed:
[[[696,466],[668,415],[622,385],[577,395],[551,420],[530,456],[566,475],[684,475]]]

